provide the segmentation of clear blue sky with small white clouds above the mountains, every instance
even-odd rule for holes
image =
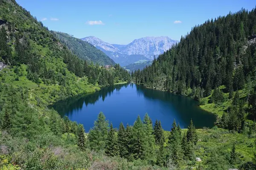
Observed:
[[[205,20],[249,11],[254,0],[16,0],[50,30],[108,43],[128,44],[147,36],[180,40]],[[176,21],[176,22],[175,22]]]

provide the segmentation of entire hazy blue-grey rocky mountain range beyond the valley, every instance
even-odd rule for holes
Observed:
[[[179,42],[169,37],[143,37],[133,40],[127,45],[106,43],[94,36],[84,37],[81,40],[100,49],[121,66],[126,66],[139,60],[151,61],[154,56],[157,58],[158,55]]]

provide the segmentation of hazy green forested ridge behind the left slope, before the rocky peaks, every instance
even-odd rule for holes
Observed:
[[[82,60],[93,61],[93,63],[99,63],[104,66],[115,65],[115,62],[111,58],[90,43],[70,36],[67,33],[55,31],[52,31],[52,33],[61,40],[61,43],[64,43],[73,54],[77,55]]]

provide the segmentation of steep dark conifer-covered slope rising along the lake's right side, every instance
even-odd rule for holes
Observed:
[[[218,126],[241,131],[247,118],[256,119],[255,40],[256,9],[207,20],[151,66],[132,72],[133,81],[224,107]]]

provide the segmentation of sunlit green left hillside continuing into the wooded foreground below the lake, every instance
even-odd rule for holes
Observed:
[[[0,169],[255,169],[255,123],[238,133],[195,130],[192,121],[181,130],[174,121],[163,132],[160,121],[153,127],[145,114],[117,132],[101,112],[85,134],[83,125],[61,118],[49,104],[129,81],[130,75],[118,64],[105,69],[80,60],[15,0],[0,0],[0,63]],[[215,90],[213,102],[221,95]],[[255,92],[249,96],[255,106]],[[239,94],[232,104],[239,105]]]

